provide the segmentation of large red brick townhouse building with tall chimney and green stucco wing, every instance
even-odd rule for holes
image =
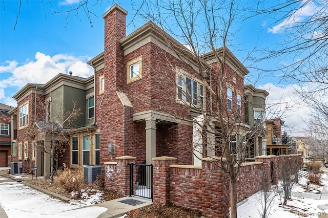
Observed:
[[[212,106],[215,111],[217,106],[215,101],[213,105],[209,103],[205,82],[195,70],[196,60],[186,47],[152,22],[127,36],[126,15],[127,11],[118,5],[103,15],[105,51],[88,62],[94,68],[94,76],[84,79],[58,74],[46,84],[27,84],[14,95],[19,114],[18,160],[23,161],[25,170],[43,167],[42,163],[44,171],[49,169],[47,155],[43,159],[41,152],[35,152],[35,158],[30,158],[34,144],[49,143],[48,136],[30,132],[30,127],[42,128],[40,121],[45,115],[39,113],[41,108],[43,113],[50,110],[60,116],[69,111],[73,101],[83,115],[74,128],[61,126],[69,128],[69,148],[58,160],[58,167],[64,162],[71,168],[104,166],[120,156],[133,156],[136,163],[147,164],[154,157],[170,156],[177,158],[177,164],[199,165],[199,158],[215,156],[216,147],[210,140],[199,148],[202,155],[192,152],[192,147],[197,146],[194,139],[200,139],[193,128],[194,119],[201,117],[202,109]],[[222,53],[222,48],[218,53]],[[244,124],[242,106],[243,79],[249,71],[228,49],[226,55],[222,115],[235,113],[236,122],[243,123],[231,135],[233,146],[250,129]],[[202,61],[208,69],[218,69],[212,52],[204,54]],[[263,95],[259,106],[263,111],[267,93],[255,92]],[[216,119],[207,125],[215,128]]]

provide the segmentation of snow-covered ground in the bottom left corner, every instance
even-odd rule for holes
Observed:
[[[94,201],[94,199],[91,199],[91,201]],[[88,204],[87,201],[85,203]],[[0,183],[0,205],[7,213],[8,218],[92,218],[107,210],[105,207],[81,208],[86,205],[64,203],[17,182]]]

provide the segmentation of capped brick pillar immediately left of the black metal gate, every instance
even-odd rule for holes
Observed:
[[[122,156],[115,158],[117,160],[116,165],[116,191],[121,195],[130,194],[130,165],[133,163],[136,157]]]

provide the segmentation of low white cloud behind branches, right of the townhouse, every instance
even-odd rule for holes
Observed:
[[[284,121],[286,132],[292,136],[303,136],[305,120],[308,119],[309,108],[300,104],[301,99],[295,94],[299,86],[295,84],[274,85],[267,83],[259,85],[258,89],[267,90],[267,119],[281,118]]]

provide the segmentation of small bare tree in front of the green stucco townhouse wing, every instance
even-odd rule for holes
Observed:
[[[72,108],[62,113],[51,112],[50,101],[44,103],[39,99],[37,120],[34,120],[30,127],[28,135],[32,138],[38,136],[44,140],[43,144],[35,147],[42,152],[50,151],[50,180],[54,179],[54,160],[56,157],[63,155],[63,149],[67,150],[69,130],[74,126],[74,120],[81,115],[81,109],[76,108],[76,102],[73,102]],[[52,105],[53,107],[54,105]],[[46,141],[50,139],[50,143]]]

